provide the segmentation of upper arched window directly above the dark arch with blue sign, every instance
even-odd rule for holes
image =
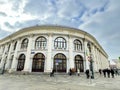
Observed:
[[[67,43],[63,37],[58,37],[54,40],[55,49],[66,49]]]

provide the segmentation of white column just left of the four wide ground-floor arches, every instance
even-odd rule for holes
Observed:
[[[17,63],[18,63],[18,51],[20,49],[20,40],[17,40],[17,45],[16,45],[16,49],[14,52],[14,57],[13,57],[13,62],[12,62],[12,67],[10,69],[10,72],[16,71],[17,69]]]

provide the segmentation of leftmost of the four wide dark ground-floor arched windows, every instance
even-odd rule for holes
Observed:
[[[21,71],[24,69],[25,64],[25,55],[21,54],[18,58],[18,65],[17,65],[17,71]]]

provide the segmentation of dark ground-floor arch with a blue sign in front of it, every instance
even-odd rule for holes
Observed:
[[[66,72],[67,60],[66,56],[58,53],[54,56],[54,70],[57,72]]]

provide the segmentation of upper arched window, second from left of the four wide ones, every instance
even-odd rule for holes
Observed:
[[[47,40],[45,37],[38,37],[35,41],[35,48],[36,49],[45,49],[47,44]]]

